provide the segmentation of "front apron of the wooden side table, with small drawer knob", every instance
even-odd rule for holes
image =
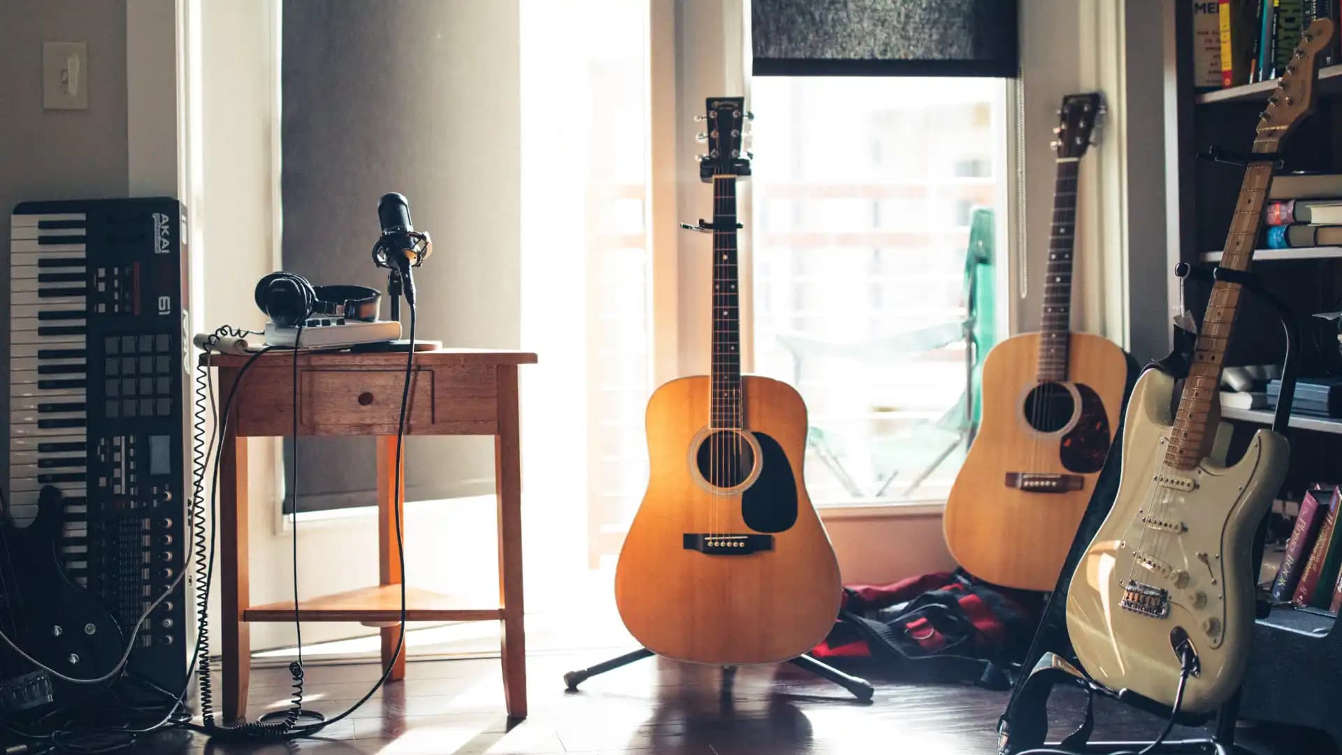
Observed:
[[[405,386],[403,369],[299,368],[298,431],[303,435],[395,435]],[[256,369],[243,378],[240,435],[293,433],[293,372]],[[417,435],[493,435],[498,378],[486,367],[416,367],[405,431]]]

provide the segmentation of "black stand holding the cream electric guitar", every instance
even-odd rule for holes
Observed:
[[[1286,427],[1291,419],[1291,403],[1295,398],[1295,378],[1298,369],[1298,356],[1300,352],[1299,325],[1296,324],[1291,308],[1286,301],[1268,290],[1252,273],[1231,270],[1227,267],[1193,266],[1186,262],[1181,262],[1174,269],[1174,274],[1185,281],[1193,278],[1208,282],[1224,281],[1228,283],[1239,283],[1243,290],[1251,292],[1253,296],[1259,297],[1260,301],[1267,304],[1282,321],[1282,329],[1286,333],[1286,355],[1282,359],[1282,392],[1278,400],[1276,412],[1272,416],[1272,430],[1276,433],[1286,433]],[[1174,352],[1161,360],[1158,367],[1168,369],[1172,373],[1186,373],[1188,357],[1181,353],[1184,351],[1180,348],[1181,339],[1181,332],[1177,330]],[[1188,349],[1192,351],[1190,343],[1182,345],[1186,345]],[[1113,751],[1138,750],[1143,754],[1172,755],[1184,752],[1201,755],[1233,755],[1236,752],[1245,752],[1243,748],[1235,746],[1235,720],[1239,713],[1240,700],[1239,692],[1231,696],[1231,699],[1213,713],[1180,713],[1174,716],[1174,723],[1185,727],[1206,728],[1210,724],[1210,736],[1165,740],[1154,747],[1151,742],[1087,742],[1094,728],[1092,705],[1096,695],[1119,700],[1166,720],[1170,717],[1170,709],[1168,705],[1159,704],[1127,689],[1108,689],[1091,680],[1086,676],[1084,670],[1079,669],[1067,660],[1072,656],[1071,642],[1067,638],[1064,607],[1067,602],[1067,587],[1071,583],[1071,576],[1076,570],[1076,564],[1080,562],[1080,558],[1090,545],[1091,539],[1095,536],[1095,532],[1103,523],[1104,516],[1113,506],[1121,470],[1118,459],[1122,458],[1122,438],[1123,427],[1119,425],[1115,431],[1114,445],[1110,449],[1111,455],[1106,461],[1104,468],[1100,470],[1100,476],[1095,482],[1095,493],[1091,496],[1091,502],[1086,509],[1080,527],[1078,528],[1076,537],[1072,540],[1071,551],[1067,553],[1067,562],[1063,566],[1063,572],[1048,599],[1048,605],[1044,607],[1044,617],[1040,621],[1039,630],[1035,633],[1035,639],[1031,642],[1027,665],[1029,665],[1031,658],[1035,658],[1035,662],[1031,672],[1028,674],[1023,674],[1016,681],[1016,685],[1012,689],[1011,700],[1007,703],[1007,709],[1002,712],[1002,716],[997,723],[998,755],[1016,755],[1037,747],[1056,748],[1062,752],[1075,752],[1078,755],[1099,755]],[[1259,527],[1259,536],[1255,540],[1252,558],[1255,567],[1263,558],[1264,535],[1266,528]],[[1259,606],[1260,614],[1263,607],[1263,605]],[[1052,688],[1057,684],[1071,684],[1087,692],[1086,720],[1075,732],[1064,738],[1062,742],[1045,744],[1044,739],[1048,736],[1048,712],[1045,705],[1048,703],[1049,692],[1052,692]]]

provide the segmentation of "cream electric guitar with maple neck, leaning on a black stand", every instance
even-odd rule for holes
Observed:
[[[1331,38],[1331,21],[1310,24],[1260,116],[1253,154],[1261,157],[1245,169],[1221,267],[1249,266],[1272,156],[1314,110],[1315,56]],[[1240,685],[1253,630],[1253,533],[1287,468],[1286,438],[1271,430],[1255,433],[1233,466],[1213,458],[1221,361],[1239,300],[1237,283],[1212,287],[1173,419],[1174,379],[1149,369],[1137,382],[1118,494],[1067,594],[1067,631],[1087,673],[1166,705],[1184,688],[1186,712],[1210,711]]]

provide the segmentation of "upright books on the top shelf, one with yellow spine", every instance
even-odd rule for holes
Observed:
[[[1342,20],[1338,0],[1182,0],[1193,3],[1193,86],[1224,89],[1280,78],[1314,19]],[[1325,55],[1327,66],[1338,58]]]

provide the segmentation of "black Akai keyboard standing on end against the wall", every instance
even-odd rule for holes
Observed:
[[[32,202],[11,218],[11,515],[27,524],[39,492],[60,490],[66,572],[126,639],[187,567],[184,236],[165,197]],[[141,627],[127,669],[166,689],[187,673],[184,590]]]

